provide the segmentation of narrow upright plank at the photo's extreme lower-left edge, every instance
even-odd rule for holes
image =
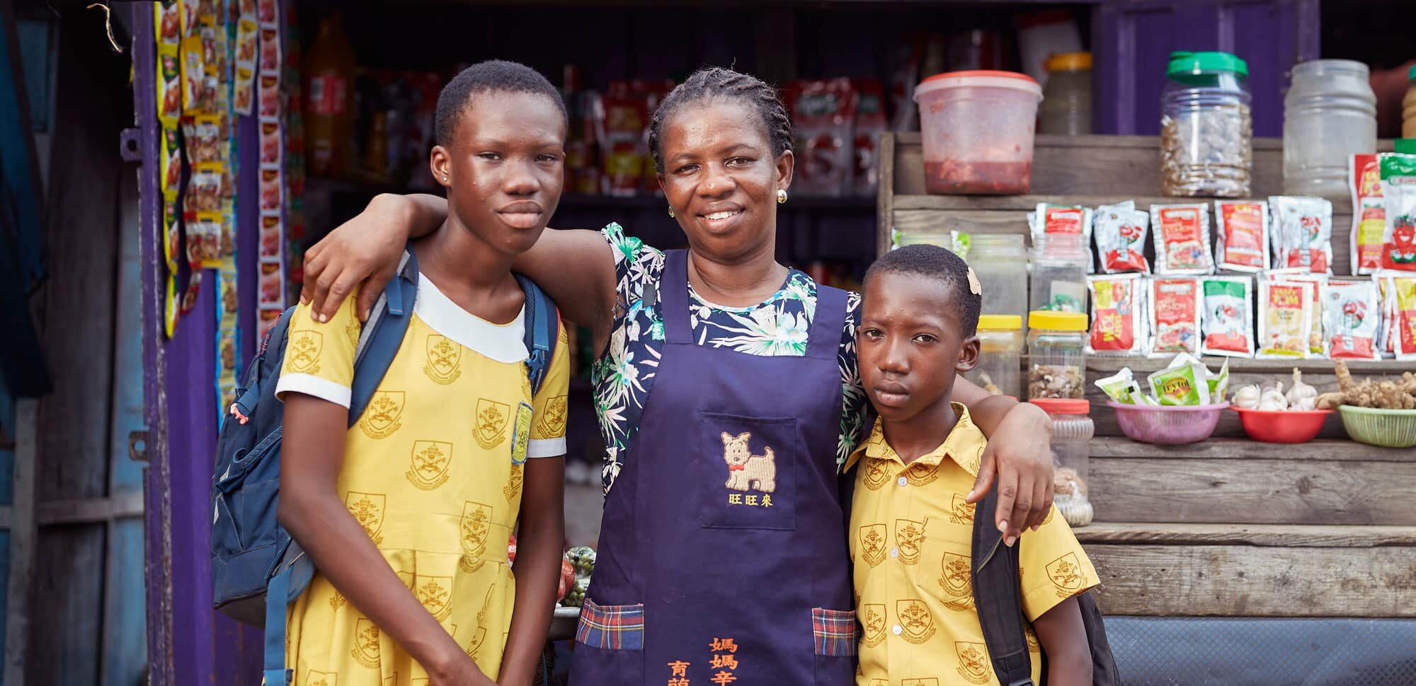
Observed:
[[[38,400],[14,403],[14,501],[10,511],[10,579],[6,587],[4,672],[3,682],[24,686],[30,646],[30,587],[35,567],[34,491],[38,453]],[[44,569],[44,567],[38,567]],[[48,571],[48,570],[45,570]],[[57,683],[57,682],[35,682]]]

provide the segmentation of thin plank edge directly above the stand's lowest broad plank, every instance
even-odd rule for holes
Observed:
[[[1073,529],[1082,543],[1260,547],[1416,546],[1416,526],[1109,523]]]

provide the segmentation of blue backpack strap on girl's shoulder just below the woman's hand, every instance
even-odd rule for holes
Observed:
[[[364,407],[368,407],[374,390],[384,380],[388,365],[394,364],[394,355],[398,355],[398,348],[404,344],[408,322],[413,318],[416,300],[418,257],[413,256],[413,249],[409,246],[398,263],[398,274],[384,287],[384,293],[378,296],[378,301],[370,310],[368,321],[360,331],[358,345],[354,348],[354,383],[350,389],[348,426],[354,426],[364,414]]]

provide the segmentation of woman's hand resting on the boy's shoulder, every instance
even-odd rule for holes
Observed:
[[[969,502],[981,501],[998,481],[994,523],[1011,546],[1052,511],[1052,420],[1037,405],[1018,403],[990,436]]]

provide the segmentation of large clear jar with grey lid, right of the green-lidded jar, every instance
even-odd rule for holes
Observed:
[[[1311,59],[1293,66],[1283,98],[1283,192],[1345,198],[1354,154],[1376,151],[1376,93],[1366,65]]]

